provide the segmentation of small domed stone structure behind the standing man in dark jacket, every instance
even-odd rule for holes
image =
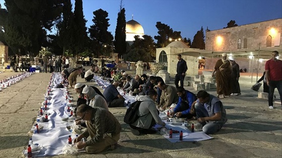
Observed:
[[[177,55],[181,54],[186,61],[188,70],[186,75],[198,74],[198,56],[203,50],[189,48],[181,41],[174,41],[165,48],[156,49],[156,62],[165,63],[165,69],[170,73],[170,76],[176,74]]]

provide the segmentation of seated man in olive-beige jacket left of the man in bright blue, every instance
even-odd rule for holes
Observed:
[[[162,90],[159,110],[164,111],[170,107],[171,104],[176,104],[178,101],[178,95],[176,88],[170,85],[166,85],[164,82],[158,83],[158,88]]]

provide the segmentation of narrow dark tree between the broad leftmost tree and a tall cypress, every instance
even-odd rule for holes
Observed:
[[[58,20],[57,28],[57,44],[62,48],[62,54],[66,50],[70,50],[70,45],[74,43],[72,35],[74,32],[74,14],[70,0],[63,0],[62,16]],[[73,52],[73,51],[72,51]]]

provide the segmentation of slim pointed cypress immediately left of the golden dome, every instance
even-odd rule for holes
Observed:
[[[120,2],[120,11],[117,14],[117,23],[115,29],[115,41],[114,41],[114,48],[115,52],[118,53],[118,56],[126,53],[126,35],[125,35],[125,9],[122,8],[122,1]]]

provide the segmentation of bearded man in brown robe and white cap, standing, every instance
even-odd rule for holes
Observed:
[[[223,99],[225,97],[229,97],[231,94],[231,64],[227,60],[227,54],[222,54],[222,59],[218,60],[214,71],[212,72],[212,77],[216,75],[217,82],[217,93],[218,97]]]

